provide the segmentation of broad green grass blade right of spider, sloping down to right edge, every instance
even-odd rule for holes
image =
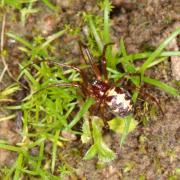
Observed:
[[[173,96],[179,96],[180,95],[177,89],[175,89],[175,88],[173,88],[173,87],[171,87],[171,86],[169,86],[169,85],[167,85],[167,84],[165,84],[159,80],[152,79],[152,78],[144,76],[143,81],[145,83],[154,85],[154,86],[162,89],[163,91],[165,91],[165,92],[167,92]]]

